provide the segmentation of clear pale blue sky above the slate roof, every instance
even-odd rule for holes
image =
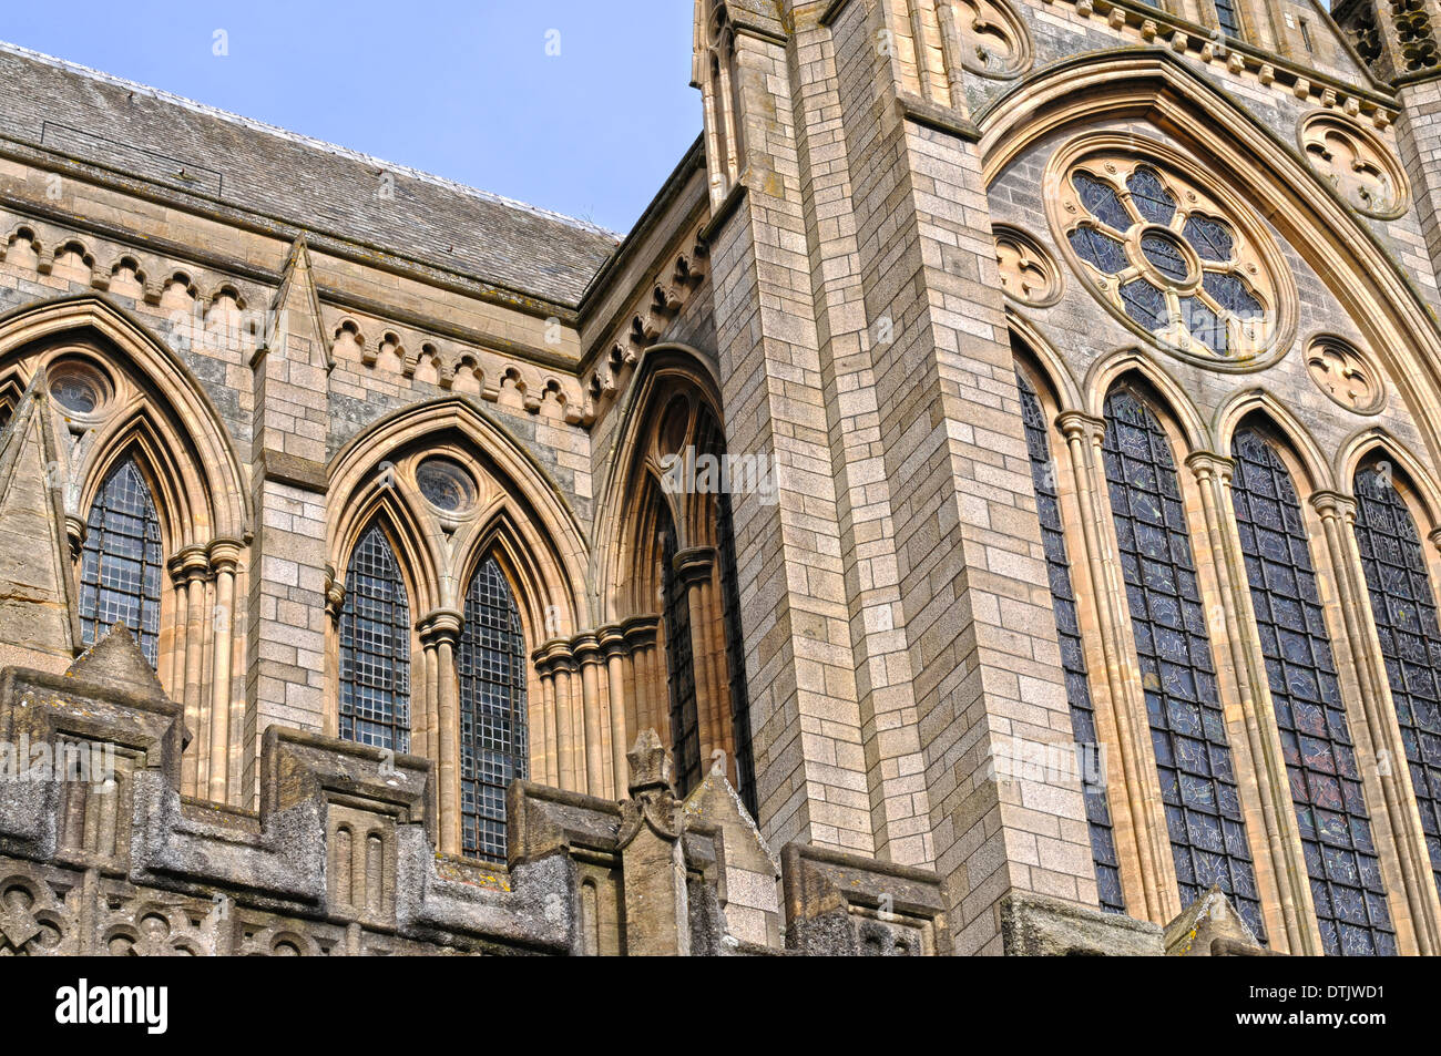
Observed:
[[[700,131],[690,35],[689,0],[0,10],[12,43],[621,232]]]

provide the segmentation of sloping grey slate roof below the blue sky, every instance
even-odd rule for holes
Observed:
[[[620,241],[584,220],[3,42],[0,84],[0,137],[558,304],[579,304]]]

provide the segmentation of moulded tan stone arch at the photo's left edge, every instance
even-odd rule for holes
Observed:
[[[124,373],[133,392],[76,448],[66,511],[84,517],[121,451],[137,451],[164,507],[170,553],[244,539],[248,488],[215,405],[173,350],[104,297],[82,294],[0,317],[0,379],[14,376],[23,386],[72,344]]]

